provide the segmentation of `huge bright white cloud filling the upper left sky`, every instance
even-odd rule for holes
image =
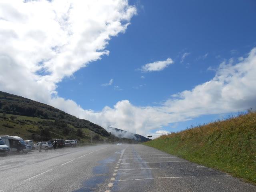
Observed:
[[[2,0],[0,89],[49,102],[56,84],[108,55],[136,8],[127,0]]]

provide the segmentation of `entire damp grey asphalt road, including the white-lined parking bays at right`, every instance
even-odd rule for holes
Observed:
[[[237,178],[143,145],[0,157],[0,192],[256,192]]]

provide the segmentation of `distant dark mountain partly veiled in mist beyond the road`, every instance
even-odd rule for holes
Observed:
[[[134,133],[131,133],[122,129],[114,128],[114,127],[108,127],[107,130],[108,132],[111,132],[111,134],[114,134],[114,136],[118,138],[129,138],[129,139],[137,140],[138,142],[146,142],[151,140],[142,135],[134,134]]]

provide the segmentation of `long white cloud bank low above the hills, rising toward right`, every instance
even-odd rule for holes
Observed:
[[[114,126],[146,136],[150,130],[161,129],[170,123],[191,120],[200,115],[238,112],[255,107],[256,103],[256,48],[237,64],[222,62],[212,80],[192,90],[172,95],[160,106],[134,106],[128,100],[106,106],[100,112],[83,110],[71,100],[55,102],[80,118],[103,127]],[[58,98],[60,99],[60,98]],[[59,103],[59,105],[58,105]],[[66,104],[67,103],[67,104]]]

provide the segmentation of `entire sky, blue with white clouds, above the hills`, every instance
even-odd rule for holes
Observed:
[[[256,108],[254,0],[2,0],[0,90],[153,138]]]

